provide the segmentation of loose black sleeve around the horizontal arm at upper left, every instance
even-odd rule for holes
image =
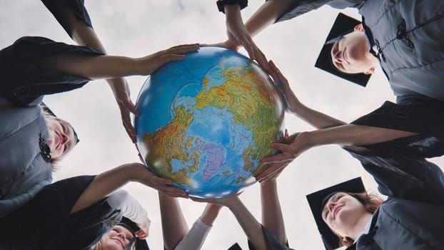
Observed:
[[[0,51],[0,94],[15,104],[28,105],[46,94],[78,89],[90,79],[39,66],[57,54],[99,56],[102,51],[39,36],[25,36]]]

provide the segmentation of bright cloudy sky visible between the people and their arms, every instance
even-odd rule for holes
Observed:
[[[244,21],[263,1],[251,0],[249,4],[242,11]],[[138,57],[177,44],[211,44],[226,39],[225,16],[217,11],[216,0],[87,0],[86,8],[109,54]],[[354,9],[343,12],[360,18]],[[363,88],[313,66],[336,14],[338,10],[325,6],[297,19],[274,24],[256,36],[255,41],[268,59],[280,67],[303,103],[350,122],[378,108],[385,100],[394,101],[394,97],[379,69]],[[0,0],[0,47],[21,36],[46,36],[74,44],[40,1]],[[241,53],[246,54],[243,50]],[[146,76],[127,78],[134,101],[145,79]],[[92,81],[76,91],[46,96],[45,101],[57,116],[71,121],[81,140],[61,162],[55,180],[99,174],[113,166],[138,161],[105,81]],[[290,115],[286,116],[286,127],[291,133],[312,130]],[[443,157],[433,161],[444,166]],[[323,249],[305,196],[356,176],[363,176],[365,186],[376,190],[371,176],[338,146],[307,151],[283,171],[278,189],[291,247]],[[141,184],[128,184],[125,189],[148,209],[152,221],[148,238],[151,249],[163,249],[156,191]],[[246,189],[241,199],[260,220],[258,184]],[[205,204],[181,199],[181,206],[191,226]],[[228,249],[235,242],[248,249],[241,227],[230,211],[223,209],[203,249]]]

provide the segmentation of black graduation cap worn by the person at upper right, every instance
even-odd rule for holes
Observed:
[[[323,45],[321,49],[321,53],[316,60],[316,68],[327,71],[328,73],[334,74],[335,76],[339,76],[342,79],[353,82],[354,84],[358,84],[360,86],[366,86],[368,83],[368,79],[370,79],[371,74],[347,74],[339,71],[333,66],[333,62],[331,59],[331,48],[333,47],[334,41],[336,38],[339,38],[345,34],[353,31],[356,25],[361,22],[353,19],[350,16],[345,16],[342,13],[339,13],[336,17],[335,23],[333,27],[331,27],[331,31],[327,36],[326,43]]]

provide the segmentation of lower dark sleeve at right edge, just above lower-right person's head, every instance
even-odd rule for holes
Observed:
[[[444,204],[444,174],[424,158],[412,157],[390,142],[349,151],[378,183],[381,194],[430,204]]]

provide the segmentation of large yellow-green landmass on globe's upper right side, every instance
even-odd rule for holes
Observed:
[[[196,96],[193,109],[204,109],[214,106],[219,109],[226,108],[233,114],[233,122],[241,124],[250,130],[254,145],[243,152],[244,170],[253,168],[251,160],[270,155],[273,150],[270,144],[276,141],[276,134],[280,130],[278,116],[282,107],[276,107],[279,96],[271,89],[268,77],[257,74],[254,65],[248,67],[230,67],[221,72],[227,81],[220,86],[208,86],[208,78],[203,80],[203,89]],[[251,159],[253,157],[253,159]],[[260,166],[253,172],[257,174],[265,166]]]

